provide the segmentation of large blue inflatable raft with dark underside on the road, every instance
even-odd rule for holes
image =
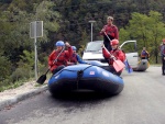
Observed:
[[[53,95],[75,90],[92,90],[108,95],[119,94],[123,90],[122,78],[98,66],[67,66],[48,80],[48,90]]]

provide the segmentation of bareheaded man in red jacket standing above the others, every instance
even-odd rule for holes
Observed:
[[[107,18],[107,24],[100,31],[100,35],[103,35],[103,45],[108,50],[111,50],[110,42],[112,40],[119,40],[118,27],[113,24],[113,18]],[[109,37],[109,38],[108,38]]]

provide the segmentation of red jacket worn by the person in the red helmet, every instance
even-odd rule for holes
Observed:
[[[111,55],[113,55],[117,59],[120,59],[121,61],[124,61],[125,60],[125,54],[117,48],[117,49],[113,49],[111,52],[108,52],[106,48],[102,48],[102,54],[105,56],[105,58],[108,58],[109,59],[109,65],[113,65],[113,59],[111,59]]]

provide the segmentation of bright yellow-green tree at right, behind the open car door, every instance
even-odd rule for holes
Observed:
[[[120,29],[121,41],[136,40],[139,48],[141,48],[139,52],[145,46],[156,64],[158,63],[158,46],[163,37],[165,37],[163,15],[155,11],[151,11],[148,15],[132,13],[129,25]]]

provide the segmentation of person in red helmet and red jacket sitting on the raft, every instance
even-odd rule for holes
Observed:
[[[120,75],[121,71],[117,72],[116,69],[113,68],[113,61],[114,59],[119,59],[122,63],[124,63],[125,60],[125,54],[119,48],[119,41],[118,40],[112,40],[111,41],[111,46],[112,46],[112,50],[108,50],[105,45],[102,45],[102,54],[103,57],[108,59],[109,61],[109,66],[110,66],[110,71],[114,75]]]

